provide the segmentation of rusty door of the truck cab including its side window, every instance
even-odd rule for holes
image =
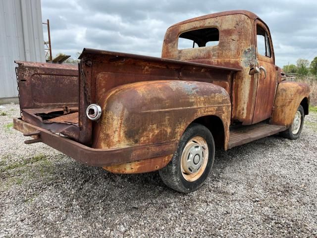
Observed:
[[[257,73],[258,88],[253,124],[270,118],[274,104],[276,80],[275,60],[269,31],[259,20],[255,22],[255,29],[256,54],[260,73]]]

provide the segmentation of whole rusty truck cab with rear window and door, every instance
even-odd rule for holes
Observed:
[[[231,122],[271,117],[282,75],[269,28],[254,13],[226,11],[177,23],[166,31],[162,58],[240,68],[234,77],[212,82],[230,95]]]

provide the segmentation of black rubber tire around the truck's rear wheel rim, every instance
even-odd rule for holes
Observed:
[[[181,156],[185,145],[195,136],[202,137],[208,145],[209,156],[205,171],[195,181],[188,181],[184,178],[181,171]],[[192,192],[197,190],[206,181],[211,173],[214,161],[214,141],[210,130],[198,123],[190,124],[182,135],[177,150],[168,165],[159,170],[159,176],[163,182],[170,188],[179,192]]]

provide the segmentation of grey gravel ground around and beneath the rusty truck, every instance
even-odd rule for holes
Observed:
[[[18,106],[1,112],[0,238],[317,237],[317,114],[296,141],[218,151],[207,182],[182,194],[157,172],[115,175],[25,145]]]

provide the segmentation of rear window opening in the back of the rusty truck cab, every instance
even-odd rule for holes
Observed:
[[[215,27],[186,31],[179,35],[178,50],[209,47],[219,44],[219,30]]]

